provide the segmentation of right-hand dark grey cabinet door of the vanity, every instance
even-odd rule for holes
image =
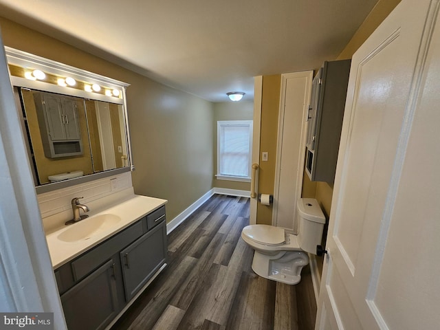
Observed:
[[[127,303],[166,261],[166,223],[141,236],[120,252]]]

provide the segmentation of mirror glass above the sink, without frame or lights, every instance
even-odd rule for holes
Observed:
[[[36,186],[130,166],[122,105],[25,88],[18,93]]]

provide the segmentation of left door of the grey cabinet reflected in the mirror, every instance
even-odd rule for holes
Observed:
[[[50,140],[66,140],[65,118],[61,108],[60,98],[49,94],[43,96],[43,104],[47,119],[47,130]]]

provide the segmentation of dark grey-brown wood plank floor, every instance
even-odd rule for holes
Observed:
[[[314,329],[309,267],[298,285],[252,271],[240,237],[250,200],[214,195],[168,236],[168,266],[111,330]]]

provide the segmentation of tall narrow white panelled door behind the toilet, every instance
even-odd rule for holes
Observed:
[[[303,188],[306,120],[313,71],[281,76],[272,225],[296,233],[296,200]]]

